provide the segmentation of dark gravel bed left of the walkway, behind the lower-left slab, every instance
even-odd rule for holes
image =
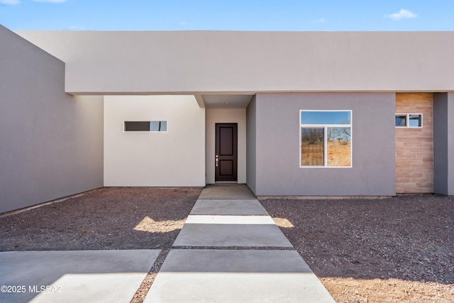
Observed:
[[[102,188],[0,218],[0,251],[167,249],[201,188]]]

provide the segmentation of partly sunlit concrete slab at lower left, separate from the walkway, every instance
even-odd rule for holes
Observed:
[[[23,292],[0,292],[0,302],[130,302],[159,253],[2,252],[0,285],[21,286]]]

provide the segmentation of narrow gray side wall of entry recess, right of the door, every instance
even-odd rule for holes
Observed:
[[[255,193],[256,192],[256,153],[257,150],[255,148],[257,137],[257,128],[256,123],[257,120],[255,119],[256,116],[256,97],[250,100],[248,108],[246,109],[246,184],[248,187]]]

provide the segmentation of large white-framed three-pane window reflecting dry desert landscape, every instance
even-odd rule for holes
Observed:
[[[352,111],[299,111],[299,166],[352,167]]]

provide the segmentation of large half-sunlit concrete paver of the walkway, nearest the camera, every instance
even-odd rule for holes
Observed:
[[[150,302],[329,302],[294,250],[170,250]]]

